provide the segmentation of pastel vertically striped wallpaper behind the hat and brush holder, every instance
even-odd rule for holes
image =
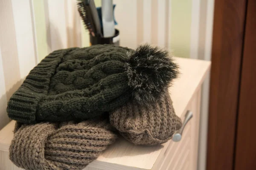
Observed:
[[[113,0],[120,45],[143,42],[175,56],[204,56],[208,4],[213,0]],[[96,6],[101,0],[95,0]],[[51,51],[89,45],[75,0],[0,1],[0,128],[6,105],[29,71]],[[211,36],[208,36],[211,38]],[[208,39],[209,39],[208,38]]]

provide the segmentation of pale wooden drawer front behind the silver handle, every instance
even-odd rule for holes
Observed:
[[[192,111],[193,117],[186,124],[181,140],[168,141],[151,170],[197,170],[200,99],[201,89],[186,108]],[[182,121],[184,116],[181,117]]]

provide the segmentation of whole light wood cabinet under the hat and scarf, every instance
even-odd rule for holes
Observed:
[[[201,85],[210,62],[185,58],[176,61],[181,74],[169,88],[175,112],[182,120],[187,110],[193,112],[180,142],[169,140],[149,147],[119,139],[85,170],[197,170]],[[11,121],[0,131],[0,170],[20,170],[9,160],[14,125]]]

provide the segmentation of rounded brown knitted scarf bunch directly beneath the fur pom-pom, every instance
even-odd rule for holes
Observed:
[[[155,105],[128,102],[110,113],[110,122],[129,142],[143,145],[167,142],[182,125],[167,92]]]

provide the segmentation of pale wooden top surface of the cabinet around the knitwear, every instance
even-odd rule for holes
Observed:
[[[210,68],[209,61],[176,58],[180,66],[180,76],[172,83],[169,93],[173,101],[175,113],[177,116],[183,116],[186,107],[190,102],[193,94],[200,88],[204,81],[207,71]],[[8,152],[10,143],[13,138],[15,121],[11,121],[0,131],[0,150]],[[167,142],[169,143],[169,142]],[[90,167],[112,166],[114,170],[123,168],[131,169],[151,169],[161,153],[165,144],[159,146],[137,146],[119,139],[111,145],[96,161],[89,164]],[[129,167],[129,168],[128,168]]]

